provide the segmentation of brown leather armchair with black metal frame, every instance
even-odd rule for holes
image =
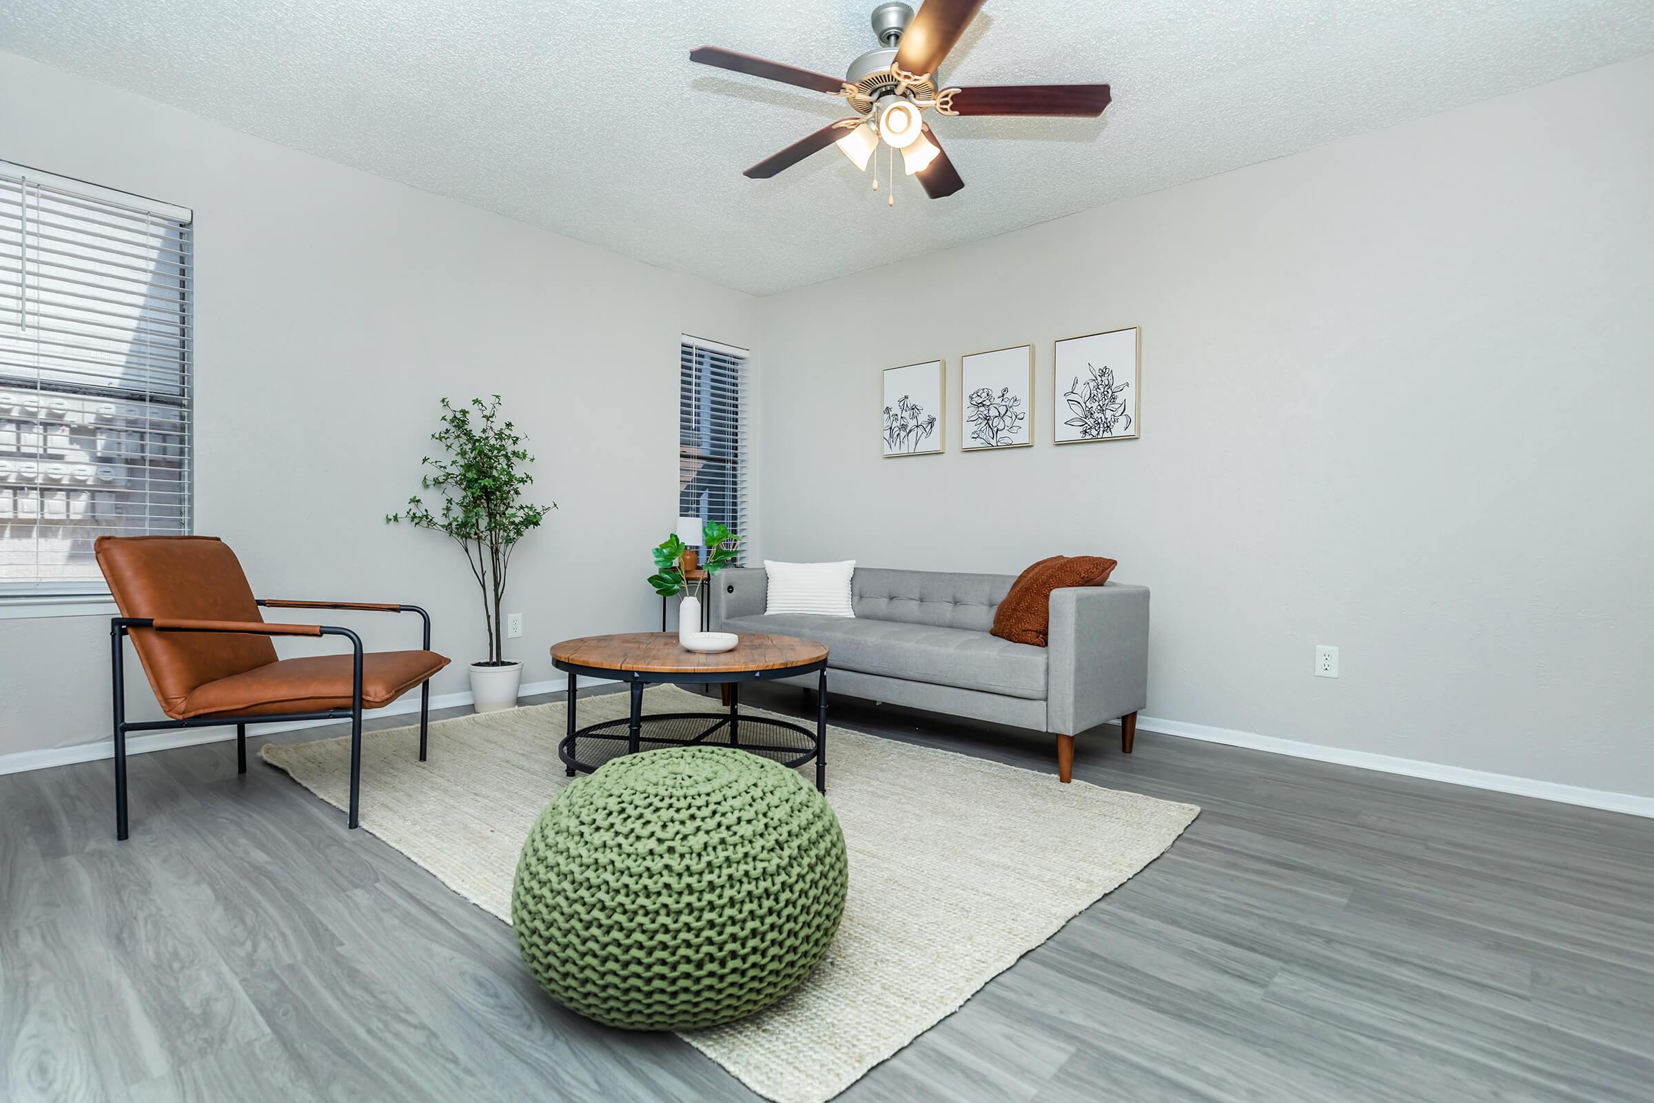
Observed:
[[[448,660],[430,650],[430,614],[418,605],[255,599],[241,564],[217,536],[99,536],[98,566],[119,617],[109,622],[114,678],[114,824],[126,838],[126,733],[235,724],[237,771],[246,772],[248,721],[351,721],[351,827],[362,790],[362,709],[384,708],[420,686],[418,757],[425,761],[430,678]],[[258,607],[414,612],[425,622],[418,652],[362,652],[362,638],[329,625],[265,623]],[[167,719],[126,719],[126,648],[132,637]],[[271,637],[339,635],[351,655],[276,658]]]

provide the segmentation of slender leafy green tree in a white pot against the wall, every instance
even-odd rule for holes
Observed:
[[[538,529],[557,503],[533,506],[523,501],[523,489],[534,478],[519,465],[533,463],[534,456],[523,448],[524,438],[516,427],[500,422],[500,395],[493,402],[471,399],[461,407],[443,399],[442,428],[430,438],[448,451],[448,458],[425,456],[422,463],[430,473],[420,485],[442,494],[442,509],[432,513],[415,494],[407,509],[385,521],[445,532],[465,551],[465,562],[483,589],[483,627],[488,630],[488,658],[471,663],[473,704],[478,713],[513,708],[523,663],[506,660],[501,647],[506,567],[518,541]]]

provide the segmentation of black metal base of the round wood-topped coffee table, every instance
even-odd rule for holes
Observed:
[[[774,759],[789,769],[815,762],[815,789],[827,792],[827,668],[820,666],[819,670],[815,731],[789,719],[743,716],[741,683],[713,683],[706,676],[685,678],[683,681],[728,686],[729,709],[726,713],[657,713],[645,716],[645,681],[637,675],[629,678],[632,708],[627,716],[577,728],[577,673],[569,670],[569,726],[567,734],[557,744],[557,757],[562,759],[569,777],[574,777],[576,774],[590,774],[610,759],[638,751],[698,746],[739,747]],[[758,675],[749,676],[756,678]],[[668,685],[676,681],[670,675],[662,678],[662,683]]]

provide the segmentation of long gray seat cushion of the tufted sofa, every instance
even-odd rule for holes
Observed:
[[[827,665],[839,670],[1045,700],[1045,650],[986,632],[809,614],[731,617],[719,628],[801,635],[825,643]]]

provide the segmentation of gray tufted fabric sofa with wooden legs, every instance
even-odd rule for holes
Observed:
[[[711,622],[723,632],[801,635],[827,645],[829,691],[1049,731],[1068,781],[1073,738],[1121,721],[1131,752],[1148,700],[1148,589],[1054,590],[1049,647],[989,635],[1016,575],[857,567],[855,617],[764,614],[761,567],[719,572]],[[792,680],[814,686],[815,676]]]

